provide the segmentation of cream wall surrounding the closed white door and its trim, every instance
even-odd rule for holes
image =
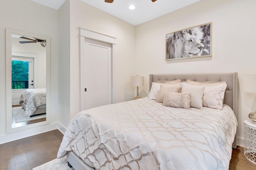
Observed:
[[[130,76],[136,74],[133,67],[135,26],[80,0],[70,0],[70,118],[80,111],[79,27],[116,37],[115,102],[124,102],[134,97],[134,88],[130,86]],[[63,125],[66,126],[65,123]]]

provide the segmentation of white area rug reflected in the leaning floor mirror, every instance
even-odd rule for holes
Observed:
[[[20,106],[20,107],[12,107],[12,116],[14,118],[15,123],[19,123],[23,121],[44,118],[46,117],[46,114],[29,117],[25,115],[25,110]]]

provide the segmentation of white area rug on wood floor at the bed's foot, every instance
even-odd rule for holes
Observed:
[[[68,167],[67,157],[64,156],[60,159],[54,159],[50,162],[42,164],[33,170],[74,170],[73,168]]]

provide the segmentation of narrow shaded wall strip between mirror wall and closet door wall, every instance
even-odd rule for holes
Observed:
[[[58,10],[59,39],[59,121],[65,128],[70,122],[70,0]],[[73,75],[74,76],[74,75]]]

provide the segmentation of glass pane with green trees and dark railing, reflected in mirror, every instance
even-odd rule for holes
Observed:
[[[12,89],[28,88],[28,63],[12,60]]]

